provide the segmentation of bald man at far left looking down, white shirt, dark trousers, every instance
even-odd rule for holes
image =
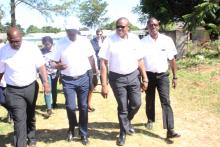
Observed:
[[[37,70],[43,78],[45,93],[50,92],[45,60],[37,47],[22,41],[16,27],[8,29],[7,39],[9,43],[0,50],[0,80],[4,74],[6,105],[14,121],[14,146],[33,146],[36,144]]]

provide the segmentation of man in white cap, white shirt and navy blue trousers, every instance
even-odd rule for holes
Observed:
[[[96,73],[94,50],[90,41],[79,35],[78,22],[67,19],[65,23],[67,37],[57,42],[54,61],[55,67],[61,70],[63,92],[66,98],[66,110],[69,120],[68,141],[74,137],[75,127],[79,126],[79,133],[83,145],[88,141],[88,105],[89,92],[88,70],[92,68]],[[79,108],[79,124],[76,118],[76,98]]]

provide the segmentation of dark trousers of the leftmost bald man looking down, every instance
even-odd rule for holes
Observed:
[[[6,105],[14,121],[15,147],[26,147],[27,139],[35,139],[35,107],[38,90],[36,81],[24,87],[7,85],[5,89]]]

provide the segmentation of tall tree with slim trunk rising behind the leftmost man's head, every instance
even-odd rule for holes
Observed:
[[[56,4],[54,1],[48,0],[11,0],[11,26],[16,26],[15,9],[19,4],[25,4],[27,7],[39,11],[43,16],[52,19],[53,13],[55,15],[69,15],[68,10],[74,7],[76,2],[77,0],[66,0],[64,2],[59,0]]]

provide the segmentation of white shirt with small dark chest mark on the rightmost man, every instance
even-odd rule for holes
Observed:
[[[162,73],[168,70],[168,60],[177,54],[173,40],[163,34],[154,40],[150,35],[141,39],[144,48],[144,64],[146,71]]]

